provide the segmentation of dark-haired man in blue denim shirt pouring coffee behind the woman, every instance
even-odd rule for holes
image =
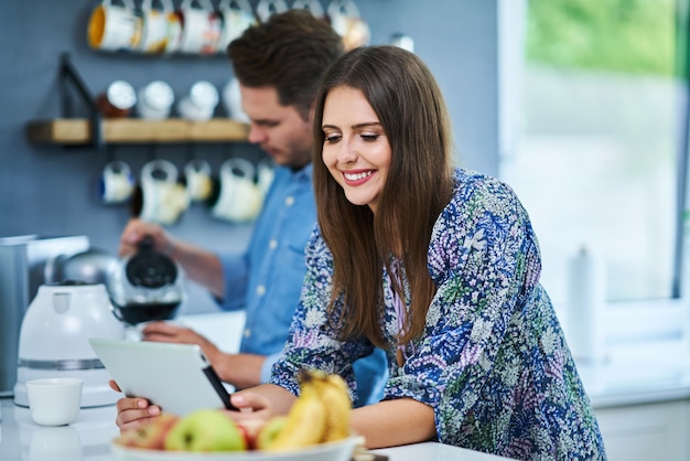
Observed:
[[[228,46],[250,120],[248,140],[277,164],[246,253],[218,255],[140,219],[122,232],[121,255],[133,253],[139,239],[151,235],[157,249],[174,258],[224,309],[246,310],[239,354],[224,353],[196,332],[170,323],[143,330],[148,341],[200,344],[220,378],[240,389],[268,380],[299,303],[304,246],[316,222],[310,163],[313,98],[322,75],[342,53],[341,37],[304,10],[273,14]],[[386,373],[380,350],[356,363],[357,406],[378,401]]]

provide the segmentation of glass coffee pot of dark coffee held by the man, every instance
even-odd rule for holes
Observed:
[[[108,278],[115,314],[128,326],[172,320],[185,299],[182,268],[144,236],[137,253],[123,258]]]

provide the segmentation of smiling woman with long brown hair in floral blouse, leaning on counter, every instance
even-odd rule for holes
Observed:
[[[529,217],[507,185],[452,168],[427,66],[391,46],[347,53],[322,83],[314,133],[319,226],[300,307],[271,384],[234,404],[285,412],[302,367],[354,387],[352,363],[378,345],[385,398],[353,410],[367,446],[605,459]]]

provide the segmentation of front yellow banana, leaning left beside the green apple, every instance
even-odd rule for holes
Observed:
[[[326,408],[319,397],[316,388],[301,383],[301,394],[292,405],[284,427],[267,447],[268,451],[285,451],[320,443],[326,428]]]

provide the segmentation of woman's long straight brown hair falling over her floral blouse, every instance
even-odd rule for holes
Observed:
[[[388,179],[376,215],[347,201],[322,160],[324,101],[338,86],[360,90],[386,132],[391,148]],[[314,189],[319,225],[333,253],[331,308],[343,297],[343,337],[362,333],[386,346],[381,332],[382,268],[402,261],[410,283],[410,312],[398,339],[408,343],[424,328],[435,285],[428,270],[434,222],[450,201],[452,141],[439,86],[413,53],[393,46],[351,51],[330,68],[316,96],[314,119]],[[402,288],[393,283],[400,299]]]

